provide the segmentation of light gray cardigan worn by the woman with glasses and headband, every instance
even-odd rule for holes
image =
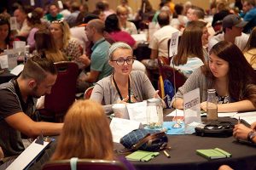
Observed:
[[[113,85],[112,76],[103,78],[96,82],[90,99],[101,103],[107,114],[111,113],[112,105],[120,101],[119,94]],[[155,90],[143,71],[131,71],[131,94],[141,102],[154,97]]]

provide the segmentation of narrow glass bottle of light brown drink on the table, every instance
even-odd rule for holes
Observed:
[[[218,119],[218,106],[216,99],[216,90],[207,90],[207,121],[215,121]]]

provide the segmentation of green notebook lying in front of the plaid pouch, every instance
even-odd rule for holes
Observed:
[[[152,158],[158,155],[159,152],[137,150],[130,155],[125,156],[125,158],[129,161],[150,161]]]

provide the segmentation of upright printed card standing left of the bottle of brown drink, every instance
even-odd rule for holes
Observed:
[[[183,94],[185,133],[195,133],[194,122],[201,123],[201,103],[199,88]]]

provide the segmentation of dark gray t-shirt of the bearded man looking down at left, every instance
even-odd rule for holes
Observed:
[[[18,112],[31,116],[35,111],[35,103],[36,99],[32,97],[29,97],[26,103],[22,101],[20,88],[17,84],[15,86],[15,81],[11,80],[0,85],[0,146],[4,156],[16,156],[25,149],[20,132],[9,126],[4,119]]]

